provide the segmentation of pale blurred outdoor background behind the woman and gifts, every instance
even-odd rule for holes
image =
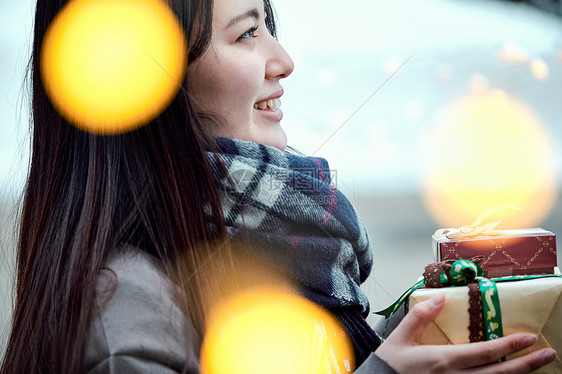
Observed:
[[[277,0],[289,144],[329,160],[375,251],[386,307],[433,261],[431,235],[512,203],[500,228],[562,233],[562,5]],[[0,3],[0,342],[28,158],[32,1]],[[560,264],[560,260],[559,260]],[[372,322],[375,318],[370,319]],[[0,345],[0,348],[3,347]]]

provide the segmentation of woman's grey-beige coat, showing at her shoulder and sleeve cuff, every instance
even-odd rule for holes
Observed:
[[[172,284],[151,255],[128,247],[98,279],[86,368],[98,373],[199,373],[201,342],[174,302]],[[372,354],[356,373],[395,373]]]

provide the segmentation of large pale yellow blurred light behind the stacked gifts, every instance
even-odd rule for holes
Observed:
[[[556,201],[554,155],[538,118],[499,90],[472,92],[427,137],[424,200],[436,221],[460,227],[486,208],[513,204],[504,228],[540,225]]]

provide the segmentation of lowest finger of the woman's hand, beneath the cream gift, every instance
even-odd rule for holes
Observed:
[[[556,359],[556,351],[551,348],[540,349],[528,355],[517,357],[500,364],[482,366],[472,371],[474,374],[526,374],[547,365]]]

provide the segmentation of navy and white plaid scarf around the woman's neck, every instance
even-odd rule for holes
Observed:
[[[365,351],[359,356],[368,355],[378,341],[371,341],[376,338],[364,319],[369,301],[359,285],[371,271],[372,251],[355,209],[332,185],[327,161],[216,140],[219,153],[209,156],[229,235],[236,240],[243,232],[260,256],[283,266],[303,296],[340,319],[356,355],[358,345]]]

